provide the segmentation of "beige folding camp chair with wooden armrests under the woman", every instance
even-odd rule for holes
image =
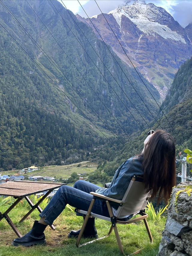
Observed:
[[[125,195],[124,195],[122,200],[117,200],[117,199],[114,199],[114,198],[111,198],[111,197],[106,197],[104,195],[101,195],[101,194],[98,194],[98,193],[95,193],[95,192],[91,192],[90,194],[93,195],[93,199],[90,203],[88,211],[75,209],[76,212],[79,212],[79,213],[82,213],[82,214],[86,215],[85,220],[84,220],[83,225],[82,225],[82,228],[81,228],[81,231],[79,233],[79,236],[77,237],[77,241],[76,241],[76,246],[77,247],[81,247],[83,245],[95,242],[95,241],[103,239],[105,237],[108,237],[110,235],[110,233],[112,232],[112,230],[114,229],[116,239],[117,239],[117,243],[118,243],[118,246],[119,246],[119,250],[122,252],[122,254],[126,255],[124,253],[124,250],[123,250],[123,247],[122,247],[122,243],[121,243],[121,240],[120,240],[120,237],[119,237],[119,233],[118,233],[116,224],[130,224],[130,223],[134,223],[134,222],[137,222],[137,221],[140,221],[140,220],[144,221],[147,233],[149,235],[149,239],[150,239],[151,243],[153,242],[152,235],[151,235],[151,232],[149,230],[149,226],[148,226],[148,223],[147,223],[147,220],[146,220],[148,215],[145,213],[145,206],[148,202],[148,198],[150,196],[150,193],[146,193],[145,183],[143,182],[142,177],[139,177],[139,176],[136,176],[136,175],[133,176],[133,178],[131,179],[131,182],[130,182],[130,184],[127,188],[127,191],[125,192]],[[110,218],[102,216],[102,215],[95,214],[94,212],[91,212],[92,207],[93,207],[96,199],[105,201],[107,203],[107,208],[108,208],[108,211],[109,211]],[[115,215],[113,215],[111,204],[113,204],[113,205],[116,204],[116,205],[119,206]],[[129,215],[135,215],[135,214],[140,214],[141,216],[129,219],[127,221],[122,221],[120,219],[121,216],[127,216],[127,215],[129,216]],[[90,242],[86,242],[84,244],[79,245],[79,242],[80,242],[80,239],[82,237],[83,231],[85,229],[86,223],[87,223],[88,218],[90,216],[100,218],[100,219],[103,219],[103,220],[107,220],[107,221],[111,221],[110,231],[104,237],[101,237],[101,238],[98,238],[98,239],[92,240]],[[140,250],[135,251],[134,253],[132,253],[130,255],[137,254]]]

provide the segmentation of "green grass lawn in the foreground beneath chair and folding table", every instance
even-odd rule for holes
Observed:
[[[1,206],[1,212],[4,212],[6,209],[6,205]],[[24,222],[19,223],[19,220],[27,211],[28,209],[23,207],[22,204],[19,204],[19,206],[16,206],[9,213],[9,217],[23,235],[31,229],[34,220],[39,219],[38,211],[35,210]],[[139,222],[139,224],[118,225],[125,253],[130,254],[139,248],[143,248],[143,250],[137,254],[138,256],[156,256],[158,254],[161,232],[164,230],[165,221],[165,217],[161,217],[156,222],[150,219],[148,220],[154,240],[153,244],[150,243],[145,225],[142,221]],[[16,238],[16,234],[8,225],[7,221],[2,219],[0,221],[0,256],[122,255],[119,252],[114,231],[108,238],[81,248],[76,248],[76,239],[68,239],[67,234],[70,230],[78,230],[81,227],[82,217],[76,216],[75,213],[67,207],[55,220],[54,225],[55,230],[52,230],[50,227],[47,227],[45,230],[46,246],[33,246],[27,248],[24,246],[14,247],[11,245],[11,242]],[[95,226],[98,231],[98,237],[101,237],[108,233],[110,222],[96,219]],[[81,242],[83,241],[85,242],[87,239],[82,239]]]

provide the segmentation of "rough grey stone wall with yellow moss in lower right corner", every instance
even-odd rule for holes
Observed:
[[[159,256],[192,255],[192,182],[173,188]]]

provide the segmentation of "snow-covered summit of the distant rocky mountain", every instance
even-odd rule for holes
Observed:
[[[177,23],[173,17],[163,8],[157,7],[145,1],[126,2],[108,14],[112,14],[121,28],[122,16],[131,20],[141,32],[146,35],[160,35],[165,39],[181,41],[186,44],[186,41],[179,33],[183,28]]]

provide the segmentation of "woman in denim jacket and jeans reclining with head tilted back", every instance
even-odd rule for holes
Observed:
[[[121,200],[134,174],[143,176],[152,198],[159,192],[158,202],[162,198],[165,202],[168,201],[176,183],[175,143],[170,134],[162,130],[150,134],[145,140],[143,152],[128,159],[118,168],[108,188],[101,188],[83,180],[75,182],[73,188],[61,186],[39,214],[40,220],[34,222],[32,229],[25,236],[14,239],[12,245],[45,244],[46,226],[53,223],[67,203],[87,211],[93,197],[89,194],[91,191]],[[116,206],[113,206],[113,211],[116,211]],[[92,212],[109,217],[107,205],[101,200],[95,200]],[[71,230],[68,237],[76,237],[79,232],[80,230]],[[89,218],[83,236],[97,238],[95,218]]]

